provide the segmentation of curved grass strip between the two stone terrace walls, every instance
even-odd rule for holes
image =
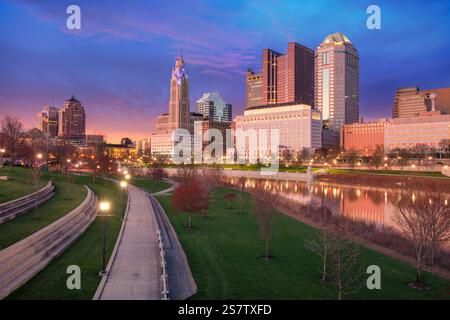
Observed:
[[[21,179],[26,179],[27,174],[31,175],[27,169],[15,168],[14,170]],[[56,194],[38,207],[37,213],[28,211],[11,221],[0,224],[0,250],[58,220],[85,199],[86,189],[77,181],[77,178],[69,182],[66,175],[45,174],[42,177],[43,181],[49,179],[55,184]]]

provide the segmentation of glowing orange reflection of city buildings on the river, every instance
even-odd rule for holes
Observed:
[[[237,184],[236,179],[230,181]],[[393,192],[386,188],[343,185],[324,182],[305,182],[259,180],[267,189],[277,192],[280,197],[302,204],[314,204],[331,209],[335,214],[375,223],[381,226],[395,227],[394,207],[391,202]],[[247,188],[254,188],[256,180],[246,180]],[[414,195],[412,195],[414,197]]]

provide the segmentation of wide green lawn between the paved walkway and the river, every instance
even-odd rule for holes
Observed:
[[[193,299],[335,299],[330,284],[319,280],[320,263],[308,242],[317,230],[291,217],[276,214],[270,262],[260,257],[264,251],[258,225],[250,213],[249,195],[245,194],[245,214],[237,213],[237,204],[228,209],[224,196],[230,189],[219,188],[214,194],[205,219],[194,216],[192,231],[185,229],[187,216],[176,213],[171,197],[159,196],[188,256],[198,285]],[[237,191],[233,191],[237,192]],[[407,287],[414,281],[411,266],[364,248],[367,265],[381,268],[382,289],[359,289],[347,299],[449,299],[450,281],[425,274],[430,290]],[[365,284],[365,282],[364,282]]]

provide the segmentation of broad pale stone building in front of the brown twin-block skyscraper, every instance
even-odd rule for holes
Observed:
[[[292,152],[313,151],[322,145],[322,118],[318,110],[304,104],[280,104],[247,109],[236,119],[236,152],[248,159],[268,157],[273,152],[289,149]],[[278,150],[272,150],[270,131],[278,130]],[[257,142],[253,145],[246,134],[254,130]],[[268,139],[260,141],[260,130],[267,130]],[[242,134],[243,136],[239,136]],[[238,140],[245,143],[238,143]]]

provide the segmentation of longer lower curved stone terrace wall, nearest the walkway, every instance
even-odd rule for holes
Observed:
[[[30,280],[94,221],[97,197],[85,186],[84,201],[64,217],[0,251],[0,299]]]

